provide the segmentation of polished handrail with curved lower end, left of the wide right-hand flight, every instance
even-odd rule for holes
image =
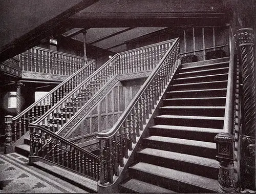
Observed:
[[[155,71],[153,71],[151,73],[150,76],[148,76],[148,78],[146,79],[146,81],[144,82],[144,84],[141,86],[140,90],[137,92],[137,94],[135,95],[135,97],[132,99],[132,101],[129,103],[129,105],[126,107],[125,111],[123,112],[123,114],[119,117],[119,119],[117,120],[117,122],[114,124],[114,126],[111,128],[111,130],[109,130],[108,132],[100,132],[97,134],[97,138],[98,139],[109,139],[111,137],[113,137],[115,135],[115,133],[117,132],[118,128],[121,127],[122,123],[124,122],[125,118],[130,114],[130,111],[133,109],[133,107],[135,106],[136,102],[139,100],[140,96],[142,95],[142,93],[146,90],[146,88],[148,87],[148,85],[150,85],[151,80],[156,76],[156,74],[158,73],[158,70],[160,69],[160,67],[162,66],[163,61],[167,58],[167,56],[169,55],[170,52],[172,52],[172,50],[175,48],[175,45],[177,44],[177,42],[179,41],[179,38],[176,39],[172,39],[175,40],[172,47],[170,47],[168,49],[168,51],[165,53],[165,55],[163,56],[163,58],[160,60],[160,62],[158,63],[158,66],[155,68]]]

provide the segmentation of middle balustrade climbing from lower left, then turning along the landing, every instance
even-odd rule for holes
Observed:
[[[59,131],[114,76],[154,69],[173,42],[168,40],[116,54],[34,124]]]

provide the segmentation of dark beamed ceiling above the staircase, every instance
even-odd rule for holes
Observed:
[[[113,52],[164,28],[220,26],[224,0],[0,0],[0,61],[59,35]]]

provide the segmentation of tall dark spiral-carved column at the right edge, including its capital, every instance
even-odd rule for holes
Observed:
[[[255,189],[255,125],[256,125],[256,88],[254,62],[254,33],[251,28],[237,31],[236,42],[239,46],[242,73],[242,187]]]

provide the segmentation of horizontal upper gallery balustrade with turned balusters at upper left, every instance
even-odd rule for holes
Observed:
[[[19,67],[23,71],[69,76],[83,65],[83,57],[39,47],[19,54]]]

